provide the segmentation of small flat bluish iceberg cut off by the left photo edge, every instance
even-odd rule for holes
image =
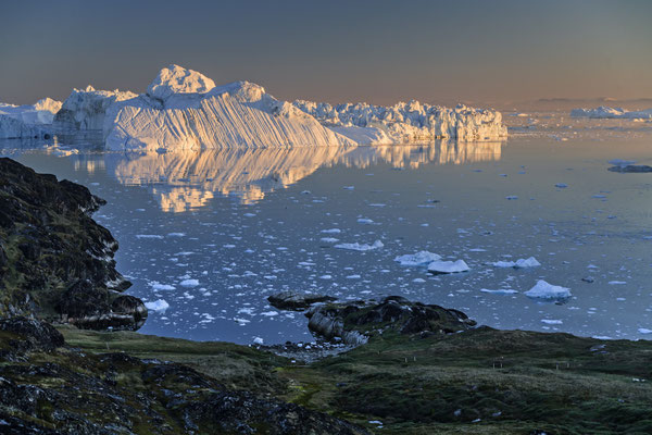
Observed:
[[[14,105],[0,103],[0,139],[38,138],[50,133],[54,114],[61,101],[51,98],[35,104]]]

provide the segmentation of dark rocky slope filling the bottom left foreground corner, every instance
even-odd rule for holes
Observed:
[[[0,321],[0,433],[368,434],[298,405],[227,389],[186,365],[62,346],[47,323]]]

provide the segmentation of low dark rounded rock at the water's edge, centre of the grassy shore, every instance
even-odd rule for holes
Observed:
[[[421,336],[468,330],[476,322],[462,311],[411,302],[400,296],[381,301],[315,304],[305,314],[308,327],[329,340],[360,345],[388,331]]]

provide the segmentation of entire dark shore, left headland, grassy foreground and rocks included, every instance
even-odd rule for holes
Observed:
[[[147,310],[90,217],[102,203],[0,159],[0,433],[652,433],[647,340],[301,293],[269,302],[304,312],[316,346],[138,334]]]

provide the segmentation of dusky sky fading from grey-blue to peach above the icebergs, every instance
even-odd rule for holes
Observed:
[[[170,63],[277,98],[652,97],[652,1],[0,0],[0,101],[145,91]]]

